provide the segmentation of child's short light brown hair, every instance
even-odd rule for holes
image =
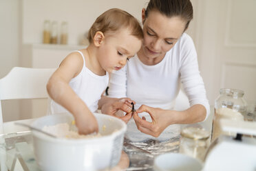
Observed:
[[[101,14],[89,29],[88,37],[89,43],[92,43],[96,32],[100,31],[115,32],[120,28],[129,28],[131,35],[138,39],[143,39],[143,32],[138,20],[128,12],[118,8],[112,8]]]

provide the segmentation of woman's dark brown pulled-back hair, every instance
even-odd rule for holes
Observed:
[[[181,17],[186,21],[184,31],[193,19],[193,6],[189,0],[150,0],[145,11],[146,18],[151,10],[158,10],[167,17]]]

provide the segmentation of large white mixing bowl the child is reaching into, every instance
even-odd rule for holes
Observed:
[[[92,139],[56,139],[41,132],[32,131],[34,153],[41,170],[103,170],[116,165],[120,160],[122,143],[127,125],[105,114],[94,113],[103,137]],[[35,128],[45,125],[71,123],[72,114],[53,114],[36,119]]]

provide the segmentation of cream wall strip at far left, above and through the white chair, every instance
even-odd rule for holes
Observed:
[[[0,1],[0,78],[12,67],[19,66],[21,40],[20,1]],[[3,101],[4,120],[10,121],[19,114],[19,101]]]

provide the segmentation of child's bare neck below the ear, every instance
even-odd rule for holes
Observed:
[[[92,45],[89,45],[86,48],[86,54],[87,54],[87,61],[86,61],[86,67],[89,68],[94,74],[97,75],[105,75],[105,70],[100,66],[100,62],[97,58],[96,48]]]

